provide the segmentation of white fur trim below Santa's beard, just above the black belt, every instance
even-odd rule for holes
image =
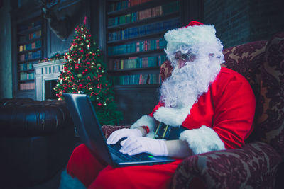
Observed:
[[[191,107],[187,108],[165,108],[160,107],[153,114],[154,118],[159,122],[165,123],[173,127],[182,125],[182,122],[187,118],[190,113]]]

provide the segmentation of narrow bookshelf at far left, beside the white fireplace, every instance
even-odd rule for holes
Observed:
[[[42,18],[35,16],[16,24],[17,91],[34,91],[34,69],[43,57]]]

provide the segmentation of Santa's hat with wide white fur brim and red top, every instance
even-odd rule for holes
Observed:
[[[169,30],[164,37],[168,42],[165,52],[170,60],[174,57],[175,52],[189,49],[197,56],[199,53],[222,56],[223,46],[216,37],[214,25],[191,21],[183,28]]]

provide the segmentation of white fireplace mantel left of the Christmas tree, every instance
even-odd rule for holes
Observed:
[[[58,80],[65,59],[33,64],[35,69],[35,100],[45,100],[45,81]]]

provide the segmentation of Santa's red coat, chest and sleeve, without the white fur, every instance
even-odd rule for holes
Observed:
[[[150,116],[163,106],[158,103]],[[222,67],[207,93],[192,106],[183,127],[197,129],[202,125],[217,132],[226,149],[244,145],[253,130],[256,100],[249,82],[236,71]]]

